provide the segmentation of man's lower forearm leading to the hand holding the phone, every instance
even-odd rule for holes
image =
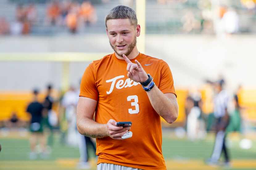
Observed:
[[[92,119],[83,118],[82,120],[78,120],[77,130],[84,136],[89,136],[93,138],[103,138],[108,136],[106,130],[106,124],[100,124]]]

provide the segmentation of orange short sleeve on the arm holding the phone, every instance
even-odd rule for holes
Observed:
[[[88,97],[98,101],[99,92],[95,83],[95,65],[94,63],[89,64],[85,69],[84,75],[80,84],[79,96]]]

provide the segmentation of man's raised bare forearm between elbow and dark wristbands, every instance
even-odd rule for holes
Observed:
[[[168,123],[173,123],[178,117],[178,103],[166,97],[157,86],[147,92],[148,98],[155,111]]]

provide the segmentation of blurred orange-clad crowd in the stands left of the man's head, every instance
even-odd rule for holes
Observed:
[[[34,3],[18,5],[14,22],[9,23],[0,17],[0,35],[30,34],[38,22],[38,12]],[[67,27],[76,33],[79,25],[90,26],[97,21],[96,10],[90,1],[81,4],[76,1],[51,1],[45,11],[45,25]]]

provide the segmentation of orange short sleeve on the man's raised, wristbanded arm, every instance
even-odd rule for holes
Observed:
[[[163,93],[173,93],[177,97],[173,85],[171,70],[165,61],[163,61],[161,65],[161,76],[158,88]]]

